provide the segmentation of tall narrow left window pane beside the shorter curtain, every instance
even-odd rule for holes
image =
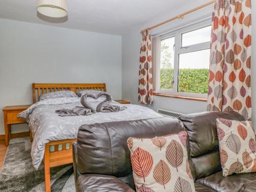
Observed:
[[[161,40],[160,89],[173,89],[175,37]]]

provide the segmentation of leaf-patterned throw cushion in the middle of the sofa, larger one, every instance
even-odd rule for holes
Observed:
[[[127,140],[137,191],[195,192],[186,140],[185,131],[153,139]]]

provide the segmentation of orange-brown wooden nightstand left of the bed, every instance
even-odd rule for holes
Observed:
[[[5,145],[9,145],[9,139],[11,139],[11,125],[26,123],[24,119],[18,118],[17,114],[28,109],[31,105],[15,105],[15,106],[6,106],[3,109],[4,119],[5,119]]]

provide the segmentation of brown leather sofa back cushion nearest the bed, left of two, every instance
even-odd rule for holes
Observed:
[[[184,131],[178,119],[156,118],[82,125],[77,135],[77,164],[81,174],[118,177],[134,188],[129,137],[154,138]]]

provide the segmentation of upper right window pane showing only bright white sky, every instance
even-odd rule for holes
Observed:
[[[182,47],[210,41],[211,26],[182,34]]]

